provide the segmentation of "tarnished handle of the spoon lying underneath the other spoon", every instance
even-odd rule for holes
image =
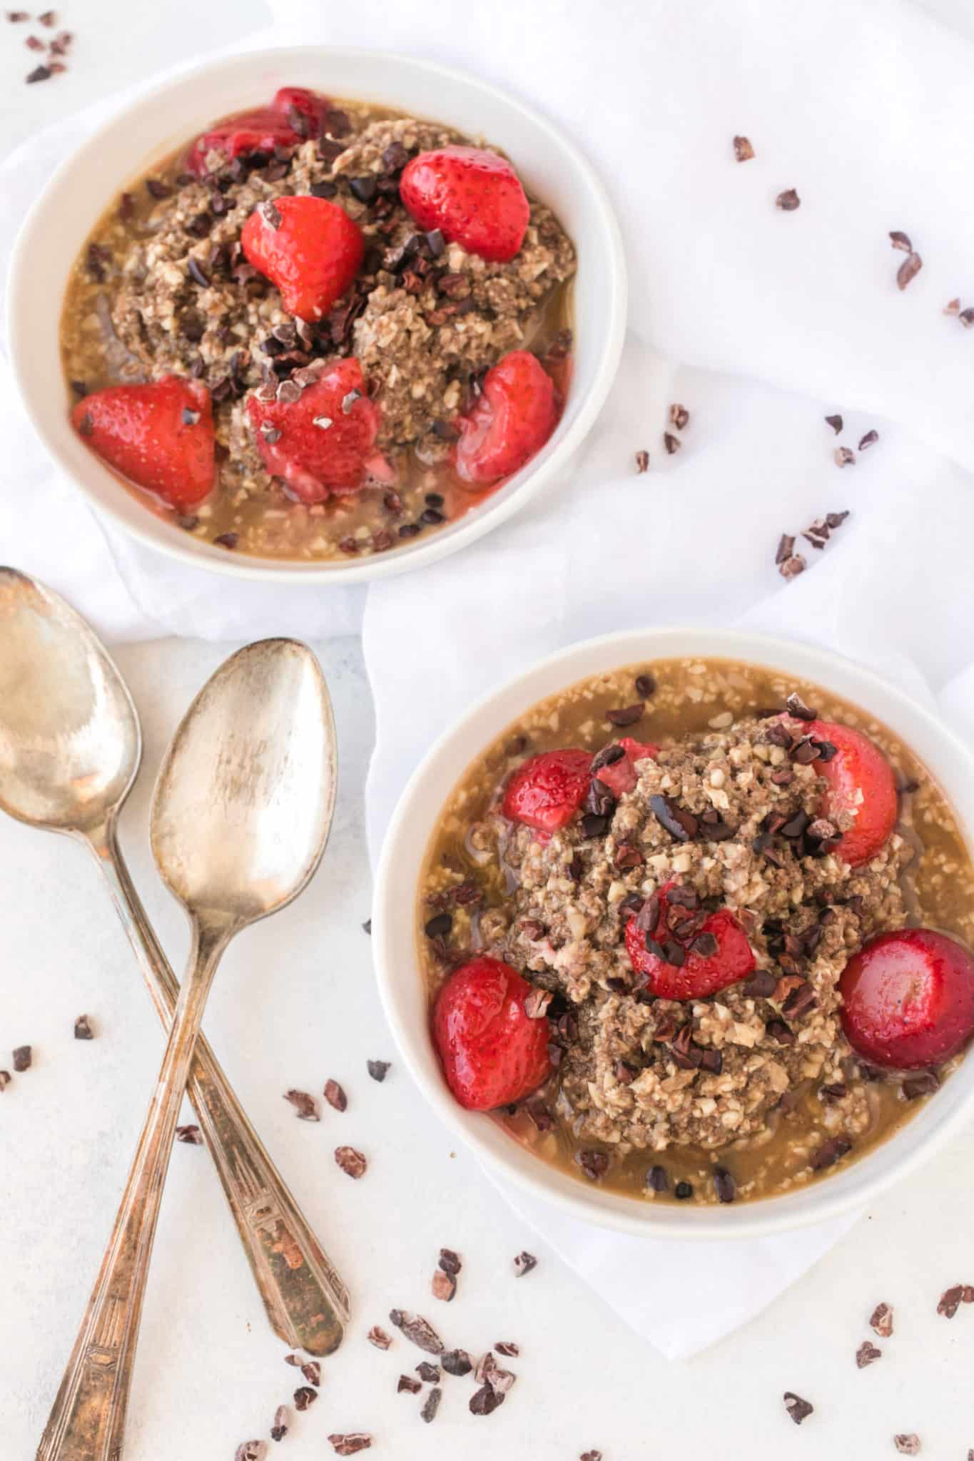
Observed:
[[[91,839],[156,1012],[168,1029],[180,986],[118,847],[114,824]],[[285,1344],[330,1354],[342,1343],[349,1296],[267,1156],[204,1036],[196,1043],[188,1096],[216,1163],[270,1327]]]

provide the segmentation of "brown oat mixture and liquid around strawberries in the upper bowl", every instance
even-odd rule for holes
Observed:
[[[187,533],[263,557],[346,561],[435,532],[494,489],[453,470],[454,422],[511,351],[533,352],[567,387],[575,257],[533,199],[510,262],[418,229],[399,196],[403,168],[467,139],[381,107],[324,105],[320,136],[232,159],[218,148],[203,175],[187,171],[184,148],[129,184],[73,270],[61,345],[74,397],[171,373],[209,387],[219,481],[178,514]],[[353,285],[315,323],[289,314],[241,248],[254,209],[289,196],[331,200],[364,235]],[[266,399],[291,399],[282,390],[296,399],[336,356],[361,362],[391,472],[329,501],[294,501],[261,460],[247,402],[261,389]]]

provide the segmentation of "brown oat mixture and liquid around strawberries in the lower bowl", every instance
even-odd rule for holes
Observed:
[[[781,716],[790,694],[799,714]],[[806,703],[867,733],[898,777],[895,830],[860,866],[838,853],[853,818],[821,815]],[[590,792],[551,834],[502,814],[529,757],[578,747],[612,764],[624,736],[659,752],[618,799]],[[682,963],[680,920],[717,909],[746,934],[746,977],[710,998],[647,993],[626,923],[651,938],[669,919]],[[419,922],[431,993],[478,953],[545,992],[553,1074],[496,1113],[517,1140],[645,1199],[716,1202],[851,1160],[936,1088],[955,1061],[904,1078],[853,1053],[837,983],[882,931],[974,942],[974,874],[942,793],[883,726],[777,674],[675,660],[574,685],[508,728],[444,809]]]

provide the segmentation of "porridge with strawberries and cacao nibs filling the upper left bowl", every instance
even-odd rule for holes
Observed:
[[[384,554],[545,444],[574,270],[489,145],[282,88],[129,184],[91,234],[61,321],[72,421],[194,538]]]

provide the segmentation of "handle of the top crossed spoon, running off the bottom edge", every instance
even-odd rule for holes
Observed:
[[[156,1088],[37,1461],[118,1461],[152,1240],[206,996],[229,929],[194,925]]]

